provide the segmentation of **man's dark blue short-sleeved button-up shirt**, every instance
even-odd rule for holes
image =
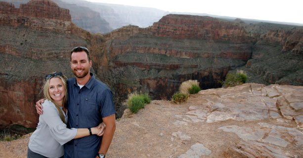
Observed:
[[[68,79],[68,122],[69,128],[95,127],[102,118],[116,113],[111,90],[92,73],[87,84],[80,89],[76,78]],[[66,158],[95,158],[102,137],[90,135],[73,139],[64,145]]]

